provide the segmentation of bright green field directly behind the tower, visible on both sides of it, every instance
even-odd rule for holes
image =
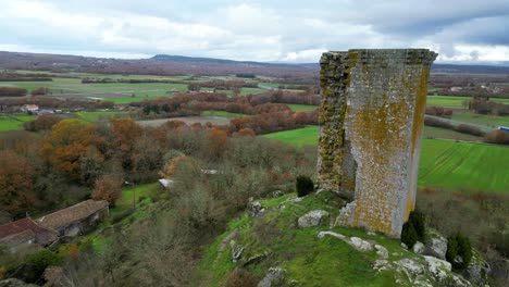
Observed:
[[[294,147],[318,145],[319,127],[264,135]],[[420,187],[509,192],[509,148],[454,140],[423,139]]]

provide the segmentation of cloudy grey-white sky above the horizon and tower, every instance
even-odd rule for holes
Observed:
[[[384,3],[382,3],[384,2]],[[509,61],[508,0],[0,0],[0,50],[316,62],[326,50],[430,48]]]

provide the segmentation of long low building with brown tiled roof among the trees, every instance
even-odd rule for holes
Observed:
[[[109,203],[105,200],[86,200],[45,215],[37,223],[59,236],[76,236],[92,230],[98,221],[109,215]]]

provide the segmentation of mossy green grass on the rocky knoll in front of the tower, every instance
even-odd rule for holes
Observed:
[[[360,252],[333,237],[316,238],[316,234],[328,230],[328,226],[305,229],[295,227],[296,220],[311,210],[327,210],[332,216],[337,215],[340,205],[336,202],[344,204],[343,200],[336,195],[323,192],[309,196],[300,202],[286,201],[295,196],[289,194],[282,198],[262,200],[261,204],[265,208],[263,216],[240,217],[232,222],[229,228],[206,248],[191,285],[224,286],[235,266],[243,264],[243,259],[237,264],[232,262],[228,245],[223,252],[219,248],[234,228],[238,228],[234,240],[246,247],[244,260],[260,253],[270,254],[263,261],[246,267],[260,279],[269,267],[281,266],[286,271],[286,277],[296,279],[299,286],[390,286],[386,284],[394,283],[392,273],[373,271],[375,251]],[[282,203],[285,209],[277,208]],[[398,255],[392,259],[413,257],[404,251],[397,240],[385,236],[367,235],[355,228],[334,227],[333,230],[346,236],[376,240],[390,253],[398,251]]]

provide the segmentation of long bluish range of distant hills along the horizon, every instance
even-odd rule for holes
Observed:
[[[0,51],[0,68],[50,72],[147,75],[257,74],[282,78],[316,78],[319,63],[264,63],[213,58],[157,54],[150,59],[124,60],[48,53]],[[433,64],[434,73],[509,74],[502,65]]]

